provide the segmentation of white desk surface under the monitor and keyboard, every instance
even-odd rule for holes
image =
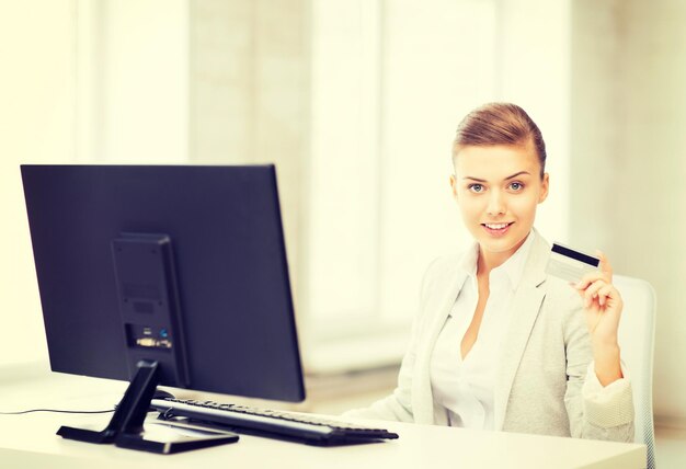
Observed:
[[[111,408],[123,384],[62,375],[7,379],[0,375],[0,411],[58,405]],[[110,414],[33,413],[0,415],[3,468],[643,468],[645,447],[621,443],[476,432],[379,422],[400,439],[381,444],[320,448],[241,435],[235,444],[158,456],[62,439],[65,424],[104,427]]]

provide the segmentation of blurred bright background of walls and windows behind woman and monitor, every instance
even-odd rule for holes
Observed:
[[[19,164],[275,162],[312,409],[386,394],[424,268],[469,240],[455,128],[512,101],[548,147],[538,229],[655,287],[655,417],[686,428],[685,24],[679,0],[0,0],[0,365],[47,361]]]

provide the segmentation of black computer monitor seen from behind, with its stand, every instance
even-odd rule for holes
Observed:
[[[158,384],[305,398],[274,165],[21,172],[52,369],[132,381],[104,434],[58,433],[139,446]]]

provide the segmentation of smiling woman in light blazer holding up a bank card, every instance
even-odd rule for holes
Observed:
[[[450,185],[475,242],[426,272],[393,394],[348,415],[633,439],[609,263],[601,255],[578,285],[546,273],[550,247],[534,228],[548,196],[545,148],[514,104],[461,122]]]

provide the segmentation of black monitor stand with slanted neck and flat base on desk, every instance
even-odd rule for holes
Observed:
[[[62,438],[95,444],[112,444],[122,448],[158,454],[174,454],[192,449],[207,448],[238,441],[230,432],[206,430],[207,436],[176,436],[176,439],[156,441],[146,436],[144,421],[149,412],[150,401],[159,384],[157,362],[140,361],[134,379],[128,385],[122,402],[112,420],[101,432],[61,426],[57,434]]]

